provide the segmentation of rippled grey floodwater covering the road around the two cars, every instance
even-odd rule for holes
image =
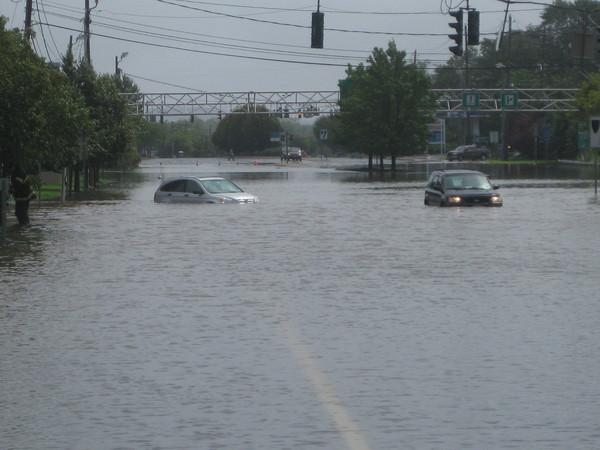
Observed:
[[[592,184],[435,208],[428,167],[321,165],[149,161],[34,207],[0,251],[0,448],[600,448]],[[260,203],[152,202],[194,173]]]

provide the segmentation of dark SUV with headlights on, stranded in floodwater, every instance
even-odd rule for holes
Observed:
[[[489,177],[476,170],[438,170],[425,186],[425,204],[438,206],[502,206],[502,196]]]

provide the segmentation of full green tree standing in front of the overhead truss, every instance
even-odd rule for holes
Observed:
[[[425,148],[434,96],[425,72],[406,62],[406,53],[391,41],[387,50],[375,48],[367,66],[346,70],[350,88],[340,101],[342,132],[346,142],[372,157],[392,158]]]

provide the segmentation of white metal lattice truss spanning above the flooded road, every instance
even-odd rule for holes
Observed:
[[[460,114],[466,111],[463,95],[479,93],[479,106],[471,112],[569,112],[576,111],[578,89],[434,89],[437,112]],[[517,93],[514,108],[502,106],[502,95]],[[280,117],[311,117],[339,112],[339,91],[290,92],[202,92],[123,94],[130,114],[161,116],[224,116],[228,114],[271,114]]]

